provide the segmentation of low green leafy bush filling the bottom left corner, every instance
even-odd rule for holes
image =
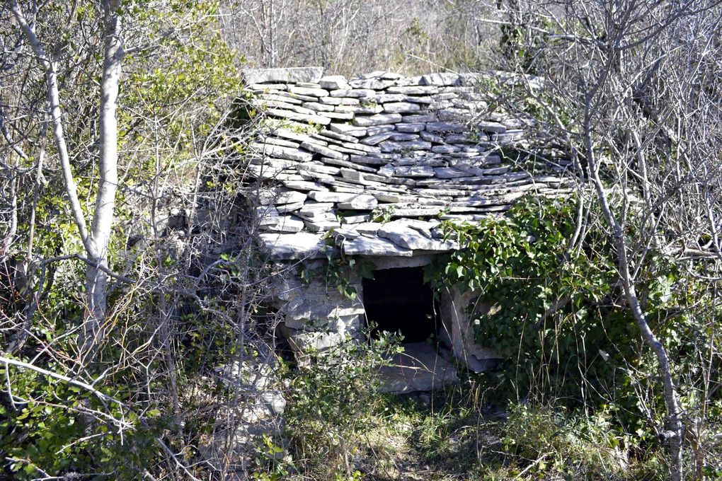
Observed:
[[[12,366],[0,366],[0,376],[10,379],[14,396],[13,403],[0,404],[0,452],[12,459],[7,469],[13,479],[90,467],[133,479],[152,459],[155,437],[165,425],[154,412],[146,412],[141,423],[126,407],[102,402],[95,394],[49,376]],[[97,389],[123,398],[114,384]],[[89,415],[92,411],[103,413],[107,421]],[[122,433],[113,418],[128,424]]]

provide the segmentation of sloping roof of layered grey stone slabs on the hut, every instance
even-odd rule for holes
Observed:
[[[568,185],[558,163],[505,156],[528,147],[534,122],[489,113],[480,74],[244,74],[262,118],[249,146],[261,186],[251,202],[274,258],[320,257],[329,239],[348,255],[448,251],[456,244],[441,238],[440,220],[479,220],[530,190]]]

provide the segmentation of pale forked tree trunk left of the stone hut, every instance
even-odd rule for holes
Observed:
[[[87,312],[80,337],[82,353],[92,351],[97,340],[103,335],[103,322],[107,301],[108,286],[108,243],[113,226],[116,190],[118,187],[118,126],[116,110],[118,105],[118,86],[120,84],[123,44],[120,37],[121,19],[118,15],[120,0],[103,0],[103,77],[100,83],[100,172],[95,213],[90,231],[88,231],[82,206],[77,195],[77,187],[70,165],[68,147],[64,137],[61,119],[61,102],[58,92],[58,78],[53,59],[40,45],[35,27],[27,21],[17,0],[11,4],[18,25],[21,27],[27,43],[38,57],[45,71],[45,84],[48,89],[51,127],[55,138],[58,158],[63,172],[63,180],[73,219],[78,228],[80,239],[87,255],[86,302]]]

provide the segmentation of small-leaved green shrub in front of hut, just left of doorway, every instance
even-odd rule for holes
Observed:
[[[347,339],[299,355],[284,412],[295,465],[314,479],[357,479],[351,459],[380,422],[379,369],[399,350],[393,337]]]

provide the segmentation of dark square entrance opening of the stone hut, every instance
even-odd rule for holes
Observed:
[[[438,316],[431,286],[424,283],[422,268],[375,270],[363,279],[366,319],[380,331],[401,332],[404,343],[419,343],[436,335]]]

